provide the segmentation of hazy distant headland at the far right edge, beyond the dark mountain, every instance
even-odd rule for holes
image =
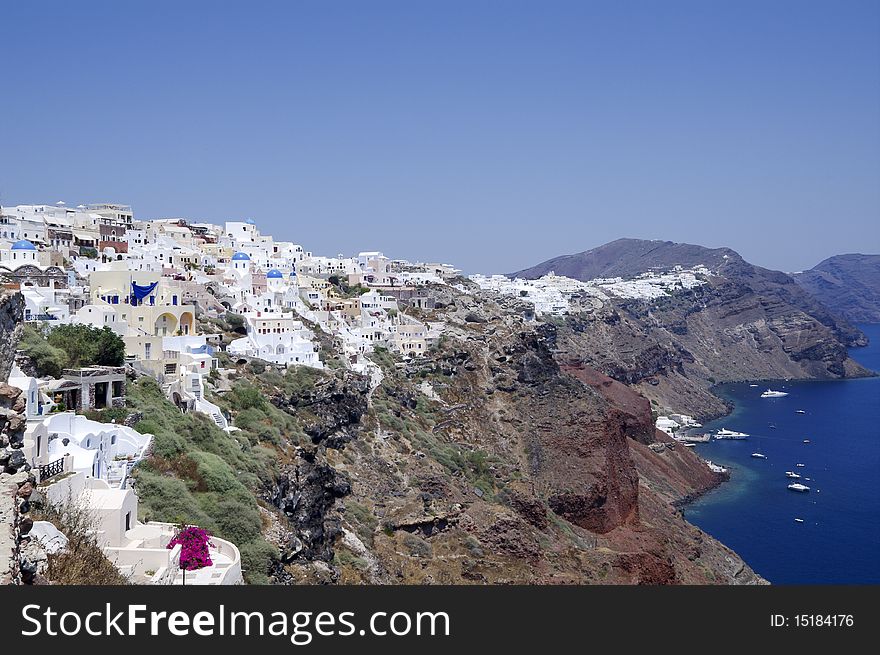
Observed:
[[[880,255],[837,255],[792,277],[845,319],[880,323]]]

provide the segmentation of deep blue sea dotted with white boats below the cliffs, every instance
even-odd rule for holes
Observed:
[[[871,343],[850,355],[880,371],[880,325],[859,327]],[[762,399],[767,383],[718,389],[736,409],[705,428],[750,436],[696,447],[731,478],[685,516],[774,584],[880,583],[880,378],[770,386],[789,395]],[[786,471],[810,492],[787,489]]]

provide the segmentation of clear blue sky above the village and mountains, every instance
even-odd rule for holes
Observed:
[[[0,202],[507,272],[880,252],[880,3],[4,2]]]

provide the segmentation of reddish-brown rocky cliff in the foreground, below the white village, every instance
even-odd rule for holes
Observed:
[[[560,359],[557,327],[521,308],[438,293],[442,344],[380,356],[367,406],[348,375],[273,396],[294,415],[338,399],[268,492],[277,582],[761,582],[682,518],[720,478],[654,430],[644,397]]]

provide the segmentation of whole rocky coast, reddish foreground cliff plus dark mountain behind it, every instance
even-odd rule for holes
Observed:
[[[693,289],[575,299],[566,318],[537,322],[467,282],[435,288],[422,318],[446,332],[426,357],[380,353],[372,391],[337,376],[273,397],[320,417],[266,496],[282,526],[275,580],[763,582],[683,519],[678,507],[724,478],[656,431],[652,408],[718,414],[718,382],[866,374],[846,352],[861,333],[728,249],[623,240],[527,274],[700,264],[712,274]]]

